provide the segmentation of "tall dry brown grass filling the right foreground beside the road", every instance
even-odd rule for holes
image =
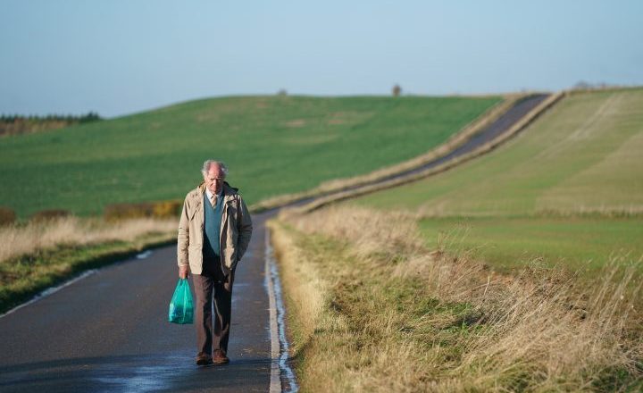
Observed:
[[[305,326],[294,354],[305,390],[643,386],[641,283],[618,261],[594,281],[538,263],[500,275],[466,251],[426,249],[413,216],[355,207],[272,227]]]

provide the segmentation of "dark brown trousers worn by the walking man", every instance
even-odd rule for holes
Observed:
[[[219,261],[204,259],[203,272],[192,274],[192,281],[196,295],[195,326],[198,355],[212,355],[213,349],[223,349],[228,352],[234,272],[224,276]]]

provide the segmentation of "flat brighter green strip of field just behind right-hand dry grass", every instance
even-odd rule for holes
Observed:
[[[643,255],[643,220],[552,217],[431,218],[420,222],[429,247],[473,252],[501,268],[546,262],[595,271],[614,257]]]

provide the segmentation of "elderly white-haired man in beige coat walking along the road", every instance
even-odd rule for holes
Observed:
[[[188,269],[192,272],[196,364],[226,364],[230,362],[232,283],[237,263],[250,242],[252,220],[238,189],[225,181],[228,168],[224,163],[207,160],[201,172],[204,182],[188,193],[180,217],[179,277],[188,278]]]

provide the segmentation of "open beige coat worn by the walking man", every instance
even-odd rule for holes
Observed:
[[[237,190],[230,187],[227,182],[223,183],[223,212],[219,239],[221,266],[226,275],[237,267],[238,261],[246,253],[252,235],[250,213]],[[179,266],[189,264],[192,274],[203,272],[204,193],[204,183],[188,193],[179,222],[177,260]]]

